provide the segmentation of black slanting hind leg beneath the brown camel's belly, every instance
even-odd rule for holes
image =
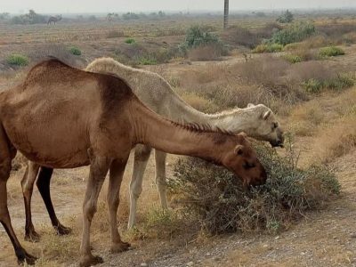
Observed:
[[[50,190],[52,174],[53,168],[41,166],[36,185],[42,198],[44,199],[44,205],[47,208],[48,214],[50,215],[51,223],[54,229],[59,235],[67,235],[71,231],[70,228],[63,226],[54,212]]]

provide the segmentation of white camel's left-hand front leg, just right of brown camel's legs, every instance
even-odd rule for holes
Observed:
[[[136,223],[137,199],[142,192],[142,179],[150,158],[151,148],[148,146],[137,145],[134,149],[134,170],[130,183],[130,214],[127,228],[131,229]]]

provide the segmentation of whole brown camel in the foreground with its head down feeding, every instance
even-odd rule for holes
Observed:
[[[36,258],[20,246],[7,208],[6,182],[17,150],[45,167],[90,166],[81,266],[102,262],[92,255],[90,226],[108,171],[110,250],[129,247],[117,231],[117,207],[127,158],[137,143],[225,166],[247,186],[267,178],[245,134],[174,123],[144,106],[122,79],[74,69],[55,59],[37,64],[21,85],[1,92],[0,103],[0,222],[19,263],[33,264]]]

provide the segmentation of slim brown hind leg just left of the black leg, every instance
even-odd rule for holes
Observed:
[[[28,161],[28,166],[26,167],[25,174],[23,175],[23,178],[21,180],[22,195],[25,201],[26,214],[25,240],[32,242],[36,242],[39,240],[39,235],[35,231],[31,215],[31,198],[33,192],[33,185],[36,181],[39,167],[40,166],[36,163]]]

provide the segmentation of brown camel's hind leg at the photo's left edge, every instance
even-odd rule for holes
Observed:
[[[19,240],[16,238],[15,232],[12,229],[12,223],[10,219],[9,210],[7,208],[7,190],[6,182],[10,176],[11,162],[14,158],[11,145],[8,142],[6,135],[4,134],[3,127],[0,128],[0,222],[3,224],[5,231],[7,232],[10,240],[12,241],[13,249],[17,256],[19,263],[34,264],[36,257],[29,255],[26,250],[21,247]]]

